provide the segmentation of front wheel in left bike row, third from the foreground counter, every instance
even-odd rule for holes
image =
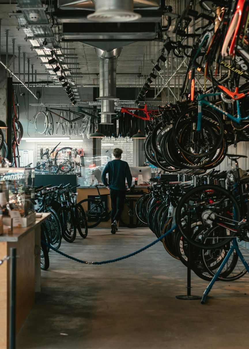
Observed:
[[[67,242],[73,242],[76,238],[76,226],[72,210],[67,206],[61,206],[58,210],[58,216],[62,224],[62,237]]]

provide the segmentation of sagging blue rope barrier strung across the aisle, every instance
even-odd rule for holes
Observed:
[[[169,231],[166,231],[166,233],[164,233],[164,234],[163,234],[162,236],[160,236],[158,239],[154,240],[153,242],[151,242],[150,244],[146,245],[145,247],[140,248],[140,250],[137,250],[137,251],[135,251],[135,252],[132,252],[132,253],[130,253],[130,254],[127,254],[126,256],[122,256],[122,257],[115,258],[115,259],[109,259],[109,260],[102,261],[102,262],[88,262],[88,261],[84,261],[84,260],[81,260],[81,259],[72,257],[72,256],[70,256],[70,255],[68,255],[68,254],[66,254],[66,253],[64,253],[64,252],[59,251],[59,250],[56,250],[56,248],[54,248],[54,247],[52,247],[52,246],[50,246],[50,248],[51,248],[53,251],[55,251],[55,252],[57,252],[57,253],[63,255],[64,257],[67,257],[67,258],[69,258],[69,259],[72,259],[72,260],[74,260],[74,261],[76,261],[76,262],[85,263],[85,264],[101,265],[101,264],[107,264],[107,263],[117,262],[117,261],[120,261],[120,260],[129,258],[129,257],[132,257],[132,256],[134,256],[135,254],[138,254],[138,253],[140,253],[140,252],[142,252],[142,251],[145,251],[147,248],[149,248],[149,247],[155,245],[158,241],[161,241],[166,235],[169,235],[175,228],[176,228],[176,225],[174,225]],[[42,244],[47,245],[47,243],[44,242],[43,240],[41,240],[41,242],[42,242]],[[48,246],[48,245],[47,245],[47,246]]]

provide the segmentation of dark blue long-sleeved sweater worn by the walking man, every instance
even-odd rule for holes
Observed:
[[[108,183],[106,174],[108,173]],[[127,162],[119,159],[109,161],[102,172],[102,182],[110,189],[126,190],[125,178],[127,180],[128,188],[131,187],[132,175]]]

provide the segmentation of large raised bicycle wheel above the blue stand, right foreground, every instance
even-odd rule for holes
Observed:
[[[204,249],[218,248],[231,241],[239,221],[238,202],[227,190],[216,185],[190,189],[182,196],[176,209],[176,224],[182,235],[190,244]],[[200,224],[204,229],[192,234],[194,226]]]

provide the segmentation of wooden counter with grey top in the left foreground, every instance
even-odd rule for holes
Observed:
[[[10,255],[10,247],[16,247],[16,333],[29,315],[40,291],[40,224],[49,213],[27,228],[13,228],[13,233],[0,235],[0,259]],[[10,261],[0,265],[0,349],[8,348],[9,332],[9,277]]]

